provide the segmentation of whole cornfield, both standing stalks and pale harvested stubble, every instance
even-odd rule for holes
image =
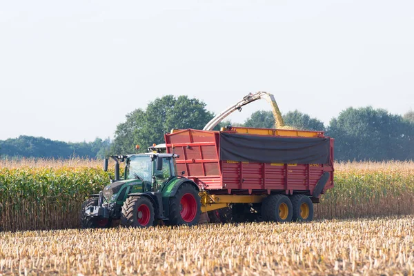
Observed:
[[[308,224],[40,231],[78,227],[101,161],[0,161],[0,275],[413,275],[414,162],[335,169]]]

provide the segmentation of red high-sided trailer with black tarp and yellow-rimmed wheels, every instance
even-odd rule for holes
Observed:
[[[272,221],[313,219],[313,203],[333,188],[333,142],[324,132],[264,128],[174,130],[167,152],[200,188],[210,215]]]

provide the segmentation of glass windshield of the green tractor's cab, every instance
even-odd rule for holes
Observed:
[[[131,156],[126,163],[126,179],[151,181],[152,162],[148,155]]]

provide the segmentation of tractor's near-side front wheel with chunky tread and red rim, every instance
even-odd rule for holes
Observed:
[[[128,197],[121,210],[121,225],[127,227],[150,227],[154,225],[154,205],[148,197]]]

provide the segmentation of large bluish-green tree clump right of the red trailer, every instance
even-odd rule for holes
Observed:
[[[328,135],[335,138],[335,159],[414,158],[413,124],[383,109],[348,108],[331,120]]]

